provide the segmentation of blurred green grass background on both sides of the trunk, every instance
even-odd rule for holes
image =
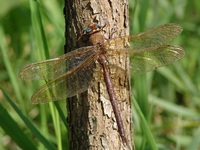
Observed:
[[[42,82],[17,75],[26,64],[63,54],[63,3],[0,0],[1,150],[67,149],[65,101],[32,105]],[[186,52],[172,65],[132,77],[136,149],[200,149],[200,1],[130,0],[129,8],[131,34],[177,23],[184,30],[173,44]]]

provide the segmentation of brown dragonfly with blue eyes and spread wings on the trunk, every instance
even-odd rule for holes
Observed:
[[[48,81],[31,97],[33,104],[48,103],[86,91],[93,84],[94,64],[99,64],[103,70],[104,82],[115,114],[119,135],[122,142],[127,144],[113,79],[108,69],[110,65],[108,57],[130,56],[133,74],[141,74],[170,64],[185,54],[181,47],[166,44],[182,32],[182,27],[169,23],[139,34],[106,39],[103,35],[105,26],[96,23],[89,24],[81,35],[81,37],[88,37],[89,46],[77,48],[60,57],[29,64],[20,70],[19,77],[24,80]],[[115,66],[117,67],[117,64],[110,65],[110,67]]]

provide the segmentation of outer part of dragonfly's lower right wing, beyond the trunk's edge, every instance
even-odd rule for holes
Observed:
[[[132,51],[131,73],[141,74],[155,70],[159,67],[177,61],[184,56],[185,52],[181,47],[163,45],[148,50]]]

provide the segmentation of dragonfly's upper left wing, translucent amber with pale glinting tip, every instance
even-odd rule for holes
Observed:
[[[32,63],[20,70],[19,77],[23,80],[55,79],[81,64],[93,53],[93,46],[88,46],[57,58]]]

